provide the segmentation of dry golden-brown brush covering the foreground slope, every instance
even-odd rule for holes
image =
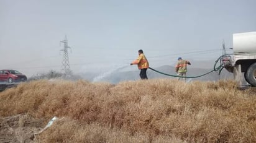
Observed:
[[[256,142],[256,92],[232,80],[37,80],[0,92],[0,116],[57,116],[39,142]]]

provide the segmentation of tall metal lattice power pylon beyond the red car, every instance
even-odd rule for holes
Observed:
[[[68,39],[66,38],[66,35],[65,35],[65,39],[63,41],[60,41],[60,43],[63,43],[64,45],[64,48],[60,50],[60,53],[63,53],[62,71],[64,72],[65,76],[68,76],[71,74],[70,61],[68,59],[68,48],[70,47],[68,46]]]

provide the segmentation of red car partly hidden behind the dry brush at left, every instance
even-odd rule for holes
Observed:
[[[0,80],[9,82],[9,83],[25,82],[27,80],[27,77],[21,72],[18,72],[16,70],[3,69],[3,70],[0,70]]]

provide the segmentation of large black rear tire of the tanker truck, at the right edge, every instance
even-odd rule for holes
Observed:
[[[247,80],[250,85],[256,87],[256,63],[250,65],[247,69],[247,72],[245,73],[245,80]]]

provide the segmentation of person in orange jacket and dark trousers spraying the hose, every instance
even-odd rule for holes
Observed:
[[[149,61],[145,57],[142,50],[138,51],[139,57],[132,61],[130,65],[137,64],[140,69],[140,79],[147,79],[147,69],[149,68]]]

